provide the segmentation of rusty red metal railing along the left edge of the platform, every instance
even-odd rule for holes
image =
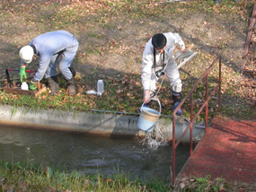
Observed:
[[[219,61],[219,70],[218,70],[218,83],[214,90],[209,94],[208,93],[208,74],[209,72],[215,67],[216,62]],[[197,86],[199,83],[203,80],[203,78],[206,77],[206,101],[203,103],[199,111],[195,116],[193,116],[193,92],[196,90]],[[206,109],[206,132],[207,132],[207,116],[208,116],[208,102],[209,100],[215,95],[216,91],[218,91],[218,111],[220,112],[220,95],[221,95],[221,57],[218,56],[216,59],[213,61],[211,65],[208,66],[207,70],[205,71],[204,74],[202,74],[199,77],[199,80],[197,83],[194,84],[190,92],[184,97],[183,100],[181,100],[180,105],[173,111],[172,115],[172,184],[175,183],[175,150],[178,147],[178,145],[181,143],[182,138],[186,135],[186,133],[190,129],[190,156],[192,156],[193,153],[193,122],[198,118],[199,114],[202,112],[203,109]],[[185,129],[185,131],[182,133],[181,137],[178,139],[176,142],[175,140],[175,117],[178,109],[181,108],[183,103],[190,97],[190,125]]]

